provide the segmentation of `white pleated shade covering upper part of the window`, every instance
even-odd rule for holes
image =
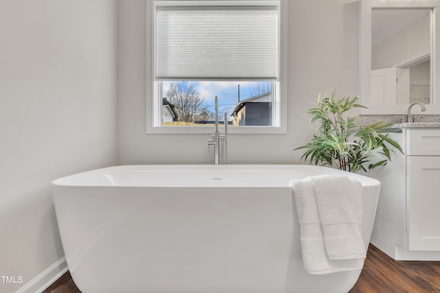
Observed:
[[[157,80],[278,78],[278,5],[157,6],[155,25]]]

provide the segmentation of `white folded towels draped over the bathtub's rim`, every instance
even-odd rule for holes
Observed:
[[[311,274],[362,269],[362,186],[347,176],[292,180],[303,262]]]

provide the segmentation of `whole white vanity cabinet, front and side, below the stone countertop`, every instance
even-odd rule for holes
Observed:
[[[397,260],[440,260],[440,129],[402,129],[405,154],[372,172],[382,182],[371,243]]]

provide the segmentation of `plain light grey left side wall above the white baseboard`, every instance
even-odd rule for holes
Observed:
[[[0,292],[64,255],[50,182],[116,163],[116,1],[0,1]]]

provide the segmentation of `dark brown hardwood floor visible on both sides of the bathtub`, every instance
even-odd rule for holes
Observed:
[[[370,244],[364,269],[349,293],[382,292],[440,292],[440,261],[395,261]],[[67,272],[43,293],[81,292]]]

